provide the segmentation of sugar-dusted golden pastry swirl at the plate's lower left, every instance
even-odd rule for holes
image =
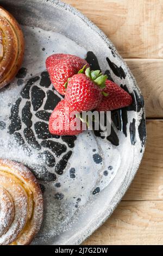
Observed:
[[[0,245],[28,245],[40,229],[43,198],[30,170],[0,160]]]

